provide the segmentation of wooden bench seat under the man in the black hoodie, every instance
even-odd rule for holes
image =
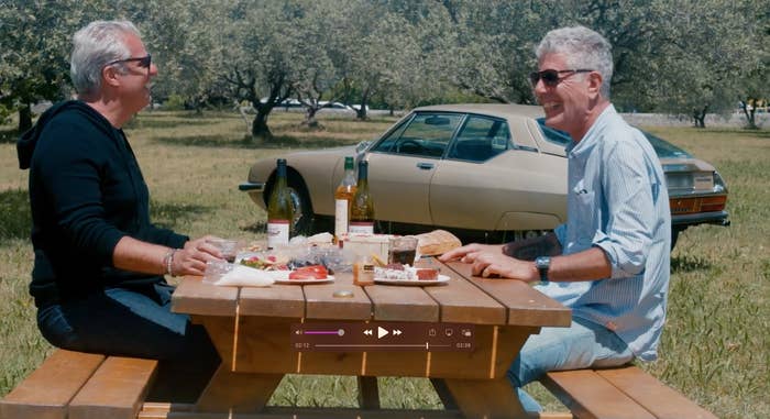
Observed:
[[[56,350],[0,400],[0,419],[136,418],[157,361]]]

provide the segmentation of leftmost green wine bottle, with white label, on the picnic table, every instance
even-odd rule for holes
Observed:
[[[288,244],[294,207],[286,183],[286,159],[278,158],[275,185],[267,200],[267,247],[275,249]]]

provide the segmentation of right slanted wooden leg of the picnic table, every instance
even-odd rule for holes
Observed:
[[[460,411],[471,419],[527,418],[506,377],[497,379],[444,379]]]

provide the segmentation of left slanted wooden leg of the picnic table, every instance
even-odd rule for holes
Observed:
[[[222,364],[198,398],[196,410],[256,412],[265,407],[282,378],[283,374],[233,373]]]

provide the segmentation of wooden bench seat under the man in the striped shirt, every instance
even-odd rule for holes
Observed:
[[[632,365],[550,372],[540,382],[579,419],[716,419]]]

